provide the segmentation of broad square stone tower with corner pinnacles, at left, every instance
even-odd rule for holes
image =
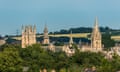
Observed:
[[[32,44],[36,44],[36,26],[22,26],[21,47],[25,48]]]

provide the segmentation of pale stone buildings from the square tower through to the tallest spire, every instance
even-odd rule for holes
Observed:
[[[36,44],[36,27],[35,26],[23,26],[22,27],[22,48],[25,48],[29,45]],[[52,51],[56,51],[57,48],[61,48],[66,54],[71,56],[75,53],[75,48],[73,48],[73,38],[72,38],[72,31],[70,33],[70,40],[68,44],[64,46],[58,47],[55,46],[53,43],[50,43],[49,35],[48,35],[48,28],[45,25],[44,28],[44,37],[42,44],[48,45],[43,46],[43,48],[47,48]],[[99,31],[98,20],[96,18],[95,25],[93,28],[93,32],[91,34],[91,44],[89,45],[81,45],[79,48],[81,51],[91,51],[91,52],[99,52],[103,50],[103,45],[101,43],[101,33]]]

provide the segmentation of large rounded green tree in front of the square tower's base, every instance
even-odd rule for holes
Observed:
[[[29,67],[30,72],[51,68],[54,62],[53,58],[47,53],[47,50],[42,49],[39,44],[21,49],[20,55],[24,60],[23,66]]]

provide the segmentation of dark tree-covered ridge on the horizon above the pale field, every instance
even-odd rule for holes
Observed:
[[[91,33],[92,27],[78,27],[78,28],[70,28],[70,29],[61,29],[60,31],[49,32],[49,34],[69,34],[70,31],[72,33]],[[112,29],[109,27],[100,27],[101,32],[110,32],[112,35],[120,35],[120,29]]]

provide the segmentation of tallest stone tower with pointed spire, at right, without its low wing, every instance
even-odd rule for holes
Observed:
[[[93,32],[91,35],[91,48],[95,51],[102,51],[102,38],[101,38],[101,33],[99,31],[99,26],[98,26],[98,19],[96,17],[95,19],[95,25],[93,28]]]

